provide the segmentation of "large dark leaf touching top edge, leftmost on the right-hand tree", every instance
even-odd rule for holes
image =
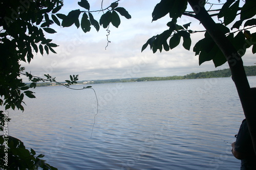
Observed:
[[[173,0],[161,0],[160,3],[156,5],[152,13],[152,21],[162,18],[170,12],[170,7],[174,4]]]

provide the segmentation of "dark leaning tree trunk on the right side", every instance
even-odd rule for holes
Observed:
[[[217,27],[216,22],[208,14],[204,8],[204,3],[202,4],[202,2],[204,1],[188,0],[188,3],[196,13],[196,19],[202,23],[206,31],[219,46],[228,61],[232,74],[232,80],[237,87],[239,98],[250,131],[254,152],[256,154],[256,101],[250,90],[243,61],[236,48],[234,48],[225,34]]]

